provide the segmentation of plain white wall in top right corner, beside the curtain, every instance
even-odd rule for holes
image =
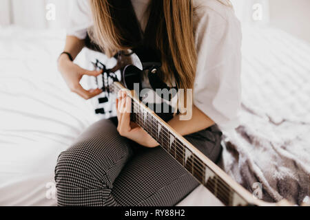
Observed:
[[[270,21],[310,42],[310,0],[270,0]]]

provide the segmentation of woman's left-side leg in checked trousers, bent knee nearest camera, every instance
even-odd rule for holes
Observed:
[[[59,205],[114,205],[110,195],[114,180],[131,156],[130,142],[111,120],[90,126],[59,155],[55,168]]]

